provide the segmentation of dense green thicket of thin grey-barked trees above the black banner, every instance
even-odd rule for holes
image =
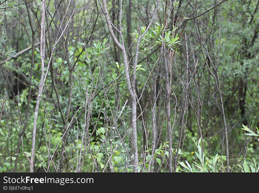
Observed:
[[[258,8],[1,0],[0,172],[258,172]]]

